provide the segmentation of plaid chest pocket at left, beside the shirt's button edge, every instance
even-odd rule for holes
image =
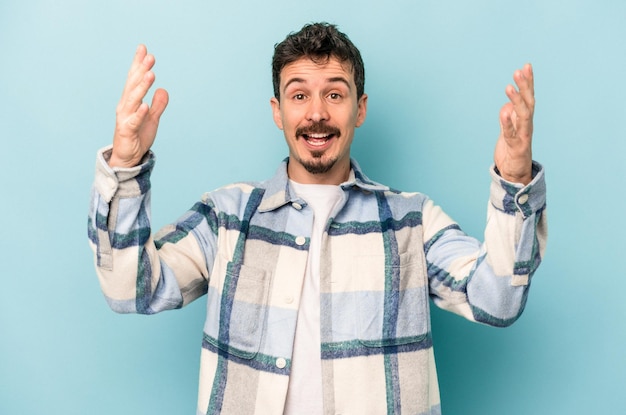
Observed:
[[[219,304],[211,307],[218,313],[214,316],[218,324],[213,326],[213,333],[207,340],[229,354],[252,359],[260,350],[265,330],[270,273],[223,261],[225,270],[220,273],[223,277],[219,281],[221,294],[214,298]]]

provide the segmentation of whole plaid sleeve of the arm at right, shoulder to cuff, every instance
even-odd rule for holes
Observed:
[[[546,241],[545,184],[543,171],[536,173],[528,186],[493,173],[483,244],[458,228],[437,231],[432,218],[442,213],[426,207],[427,262],[437,305],[496,326],[519,317]]]

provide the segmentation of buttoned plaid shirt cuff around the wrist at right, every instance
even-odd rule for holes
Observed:
[[[533,179],[525,186],[504,180],[492,166],[490,199],[496,209],[510,215],[519,212],[524,218],[544,209],[546,183],[543,166],[533,161]]]

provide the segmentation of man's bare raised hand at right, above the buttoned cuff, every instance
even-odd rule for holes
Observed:
[[[510,102],[500,110],[500,137],[494,161],[505,180],[528,184],[532,180],[532,137],[535,112],[533,69],[524,65],[513,74],[517,85],[506,87]]]

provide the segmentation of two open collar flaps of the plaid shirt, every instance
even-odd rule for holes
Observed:
[[[289,158],[283,160],[276,170],[274,177],[264,183],[265,194],[258,208],[260,212],[269,212],[287,203],[298,200],[297,196],[293,194],[289,187],[289,176],[287,176],[288,162]],[[384,192],[390,190],[389,187],[370,180],[354,159],[350,159],[350,175],[348,176],[348,180],[341,183],[339,186],[341,186],[343,190],[356,187],[367,192]]]

